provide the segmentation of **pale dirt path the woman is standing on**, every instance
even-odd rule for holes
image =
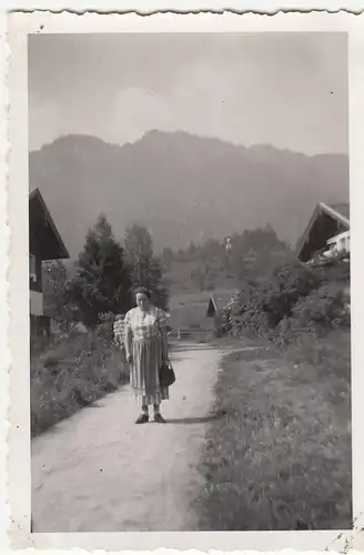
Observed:
[[[36,438],[33,532],[195,529],[190,502],[220,354],[176,349],[165,425],[135,425],[124,387]]]

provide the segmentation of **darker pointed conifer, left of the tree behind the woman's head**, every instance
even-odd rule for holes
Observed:
[[[87,325],[98,324],[103,313],[120,314],[131,307],[131,278],[124,250],[103,215],[85,238],[77,275],[67,283],[65,292]]]

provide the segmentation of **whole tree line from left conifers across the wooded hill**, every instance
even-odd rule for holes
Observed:
[[[229,249],[226,239],[208,239],[200,244],[191,242],[185,249],[165,248],[158,255],[145,228],[130,226],[120,243],[107,219],[100,216],[74,265],[44,265],[44,307],[53,316],[93,325],[103,313],[124,313],[133,304],[132,292],[139,285],[149,287],[154,302],[166,309],[169,291],[241,289],[246,281],[269,276],[293,256],[290,245],[271,225],[234,233],[229,240]]]

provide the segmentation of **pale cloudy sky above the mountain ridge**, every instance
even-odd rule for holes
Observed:
[[[347,152],[345,34],[53,34],[29,40],[29,138],[184,130]]]

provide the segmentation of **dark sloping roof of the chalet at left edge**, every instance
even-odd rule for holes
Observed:
[[[29,242],[41,260],[70,258],[39,189],[29,194]]]

